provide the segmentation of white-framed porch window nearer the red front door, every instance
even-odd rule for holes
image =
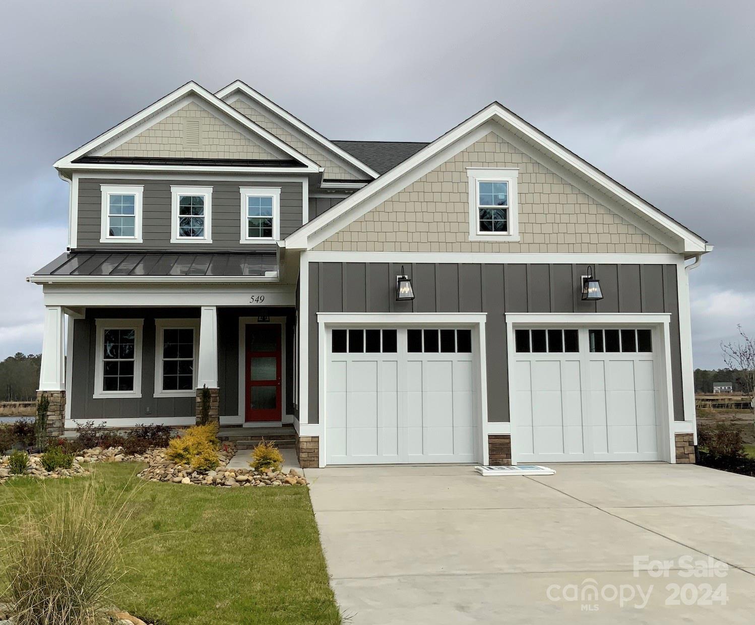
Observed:
[[[155,396],[193,397],[196,393],[196,319],[157,319]]]

